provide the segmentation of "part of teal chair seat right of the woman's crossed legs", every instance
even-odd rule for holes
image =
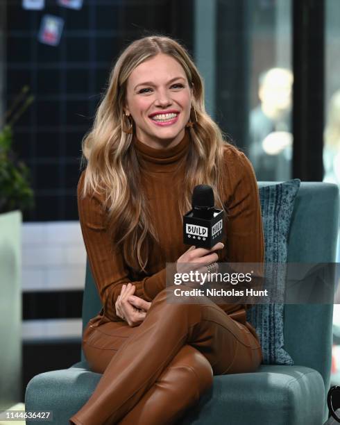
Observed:
[[[320,425],[324,392],[314,369],[261,365],[255,373],[214,376],[181,425]]]

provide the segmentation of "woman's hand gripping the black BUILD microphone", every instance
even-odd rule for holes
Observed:
[[[183,253],[177,260],[176,270],[178,273],[187,273],[191,270],[198,270],[198,272],[207,272],[207,265],[215,263],[219,260],[216,253],[219,249],[223,249],[224,244],[218,242],[211,249],[190,247]]]

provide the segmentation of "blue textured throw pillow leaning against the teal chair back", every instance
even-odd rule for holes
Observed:
[[[259,189],[264,227],[265,262],[287,263],[287,244],[291,215],[300,180],[264,186]],[[285,275],[278,274],[276,285],[284,293]],[[247,320],[255,327],[262,347],[262,363],[293,365],[293,359],[284,350],[284,304],[259,304],[247,311]]]

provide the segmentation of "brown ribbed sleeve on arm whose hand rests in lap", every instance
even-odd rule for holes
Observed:
[[[87,258],[92,270],[92,276],[103,304],[104,314],[112,321],[119,320],[114,303],[125,283],[130,282],[128,270],[120,253],[113,250],[108,229],[105,226],[105,210],[103,199],[97,194],[87,194],[83,198],[83,178],[78,183],[78,215],[87,251]],[[165,269],[142,281],[133,281],[136,286],[135,295],[145,301],[152,301],[158,292],[165,288]]]

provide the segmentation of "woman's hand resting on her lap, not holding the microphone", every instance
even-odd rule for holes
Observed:
[[[123,285],[121,294],[115,303],[117,315],[132,327],[138,326],[144,321],[146,312],[151,306],[148,301],[133,295],[135,289],[136,287],[132,283]]]

